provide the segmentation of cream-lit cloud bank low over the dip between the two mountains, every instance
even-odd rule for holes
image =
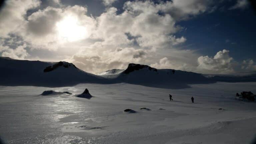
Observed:
[[[109,69],[126,69],[129,63],[142,63],[147,55],[145,50],[132,47],[117,47],[115,51],[103,51],[97,54],[87,49],[65,61],[74,63],[86,72],[98,74]]]

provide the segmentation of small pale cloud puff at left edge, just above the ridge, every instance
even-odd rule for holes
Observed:
[[[29,56],[29,54],[27,53],[27,51],[24,49],[27,45],[23,44],[18,46],[15,49],[11,49],[11,48],[7,48],[4,50],[4,52],[2,53],[3,57],[10,57],[13,59],[25,59],[26,57]]]

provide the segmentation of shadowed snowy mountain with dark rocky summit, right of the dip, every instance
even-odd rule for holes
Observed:
[[[147,65],[129,64],[116,81],[152,87],[183,88],[187,84],[214,83],[202,74],[174,69],[156,69]]]

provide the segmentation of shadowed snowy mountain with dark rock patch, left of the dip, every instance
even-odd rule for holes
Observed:
[[[78,69],[68,62],[42,62],[0,57],[0,85],[68,86],[109,83],[103,77]]]

